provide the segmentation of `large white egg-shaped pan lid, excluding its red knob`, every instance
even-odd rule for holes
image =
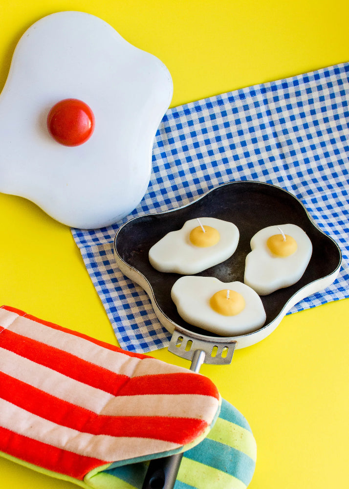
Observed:
[[[153,139],[172,99],[164,64],[84,12],[59,12],[19,41],[0,95],[0,191],[69,226],[119,221],[143,198]],[[59,101],[85,102],[95,129],[67,147],[47,131]]]

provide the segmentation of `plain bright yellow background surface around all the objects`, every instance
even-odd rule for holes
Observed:
[[[97,15],[160,58],[172,106],[349,61],[348,0],[3,0],[0,89],[24,30],[61,10]],[[3,194],[0,216],[0,303],[116,344],[69,228]],[[287,316],[230,366],[202,367],[256,437],[251,489],[348,487],[348,317],[349,300]],[[0,460],[1,489],[73,487]]]

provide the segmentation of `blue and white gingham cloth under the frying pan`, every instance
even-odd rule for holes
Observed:
[[[148,191],[113,226],[72,229],[120,346],[149,352],[170,335],[148,295],[116,267],[113,239],[135,216],[188,204],[222,183],[258,180],[302,201],[339,244],[334,284],[289,313],[349,296],[349,63],[169,109],[156,133]]]

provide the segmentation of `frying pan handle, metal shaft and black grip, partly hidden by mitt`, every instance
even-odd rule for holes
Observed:
[[[204,351],[195,350],[190,366],[192,372],[196,372],[196,374],[199,372],[205,361],[205,356]],[[151,460],[142,489],[173,489],[182,457],[183,453],[177,453]]]

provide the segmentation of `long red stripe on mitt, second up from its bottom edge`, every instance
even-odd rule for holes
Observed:
[[[153,438],[185,445],[207,427],[205,421],[191,418],[97,415],[1,372],[0,397],[41,418],[95,435]]]

